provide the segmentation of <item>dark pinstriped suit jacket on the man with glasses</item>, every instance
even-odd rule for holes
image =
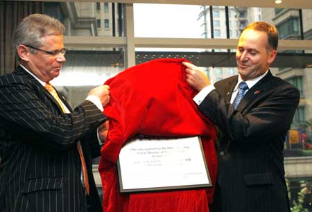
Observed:
[[[78,140],[89,174],[89,211],[102,211],[91,158],[100,154],[96,127],[106,118],[96,105],[85,100],[64,115],[21,67],[0,77],[0,96],[0,211],[87,211]]]

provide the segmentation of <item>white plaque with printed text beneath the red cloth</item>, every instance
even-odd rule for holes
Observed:
[[[211,187],[198,136],[179,139],[132,139],[117,161],[123,192]]]

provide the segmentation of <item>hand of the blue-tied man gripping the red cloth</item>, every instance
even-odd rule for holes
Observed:
[[[187,67],[187,69],[185,69],[187,72],[187,84],[193,87],[193,89],[201,91],[204,87],[211,84],[206,73],[199,67],[196,67],[189,62],[182,62],[182,64]]]

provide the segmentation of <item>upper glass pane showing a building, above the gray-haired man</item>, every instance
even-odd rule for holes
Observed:
[[[122,3],[44,2],[44,13],[62,21],[67,36],[124,35]]]

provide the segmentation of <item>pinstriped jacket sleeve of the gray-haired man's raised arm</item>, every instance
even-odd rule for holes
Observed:
[[[1,123],[6,123],[6,130],[40,148],[72,148],[105,121],[104,114],[88,100],[71,114],[61,114],[42,89],[31,82],[12,83],[12,79],[2,78],[0,96],[0,118]]]

